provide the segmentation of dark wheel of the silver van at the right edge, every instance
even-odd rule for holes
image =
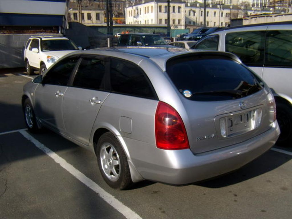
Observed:
[[[276,103],[277,121],[280,126],[281,134],[277,145],[291,147],[292,141],[292,107],[287,104]]]

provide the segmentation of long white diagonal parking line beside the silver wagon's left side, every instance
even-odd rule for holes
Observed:
[[[132,211],[130,208],[125,206],[123,203],[121,203],[119,200],[117,200],[114,196],[103,190],[99,185],[97,185],[95,182],[93,182],[91,179],[89,179],[86,175],[81,173],[79,170],[74,168],[71,164],[67,163],[66,160],[64,160],[62,157],[58,156],[55,152],[44,146],[41,142],[36,140],[34,137],[29,135],[25,130],[19,130],[19,132],[27,138],[29,141],[34,143],[36,147],[41,149],[43,152],[45,152],[48,156],[50,156],[56,163],[60,164],[65,170],[67,170],[69,173],[71,173],[74,177],[76,177],[78,180],[80,180],[82,183],[84,183],[86,186],[88,186],[90,189],[92,189],[94,192],[99,194],[99,196],[105,200],[108,204],[110,204],[112,207],[117,209],[121,214],[123,214],[126,218],[129,219],[142,219],[138,214],[136,214],[134,211]]]

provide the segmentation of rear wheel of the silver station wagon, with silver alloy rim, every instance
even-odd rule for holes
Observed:
[[[98,167],[107,185],[118,190],[128,188],[132,184],[128,159],[117,138],[106,132],[96,147]]]

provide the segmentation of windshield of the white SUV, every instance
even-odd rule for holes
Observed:
[[[61,51],[61,50],[79,50],[77,46],[68,39],[42,40],[41,51]]]

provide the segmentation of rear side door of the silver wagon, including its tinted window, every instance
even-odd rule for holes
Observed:
[[[107,59],[84,56],[63,101],[63,117],[69,136],[82,144],[89,137],[101,105],[109,95],[105,91]]]

